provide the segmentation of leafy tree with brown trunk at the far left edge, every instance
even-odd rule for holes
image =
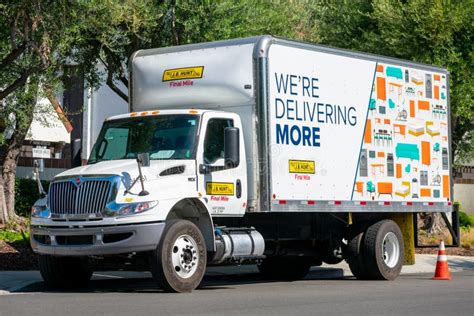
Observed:
[[[10,131],[0,136],[0,223],[18,220],[14,185],[21,145],[39,93],[54,98],[70,49],[62,32],[74,21],[72,7],[65,0],[0,3],[0,120]]]

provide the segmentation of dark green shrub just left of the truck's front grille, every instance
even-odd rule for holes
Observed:
[[[43,188],[48,191],[49,181],[41,181]],[[32,179],[15,180],[15,212],[24,217],[30,216],[31,206],[40,198],[38,185]]]

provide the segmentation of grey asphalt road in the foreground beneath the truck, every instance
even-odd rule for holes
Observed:
[[[302,281],[271,282],[214,275],[188,294],[163,293],[149,278],[108,276],[67,292],[30,285],[0,296],[0,315],[473,315],[474,271],[454,273],[452,281],[431,276],[357,281],[312,272]]]

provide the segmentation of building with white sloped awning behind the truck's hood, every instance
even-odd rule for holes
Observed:
[[[104,72],[103,66],[98,68]],[[60,120],[58,110],[48,99],[38,102],[38,113],[21,149],[17,177],[32,178],[35,159],[43,159],[42,180],[51,180],[66,169],[87,163],[103,121],[128,111],[128,104],[105,84],[97,89],[87,88],[81,77],[69,75],[64,78],[64,87],[58,101],[69,122]],[[119,87],[127,90],[123,85]]]

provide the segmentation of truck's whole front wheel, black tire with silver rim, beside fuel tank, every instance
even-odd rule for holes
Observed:
[[[177,242],[194,246],[179,249]],[[183,258],[183,264],[181,260],[178,264],[173,263],[173,258],[177,257]],[[191,292],[201,283],[206,264],[206,246],[199,228],[187,220],[168,221],[158,247],[151,255],[151,273],[158,284],[166,292]],[[189,273],[185,266],[191,267]]]

